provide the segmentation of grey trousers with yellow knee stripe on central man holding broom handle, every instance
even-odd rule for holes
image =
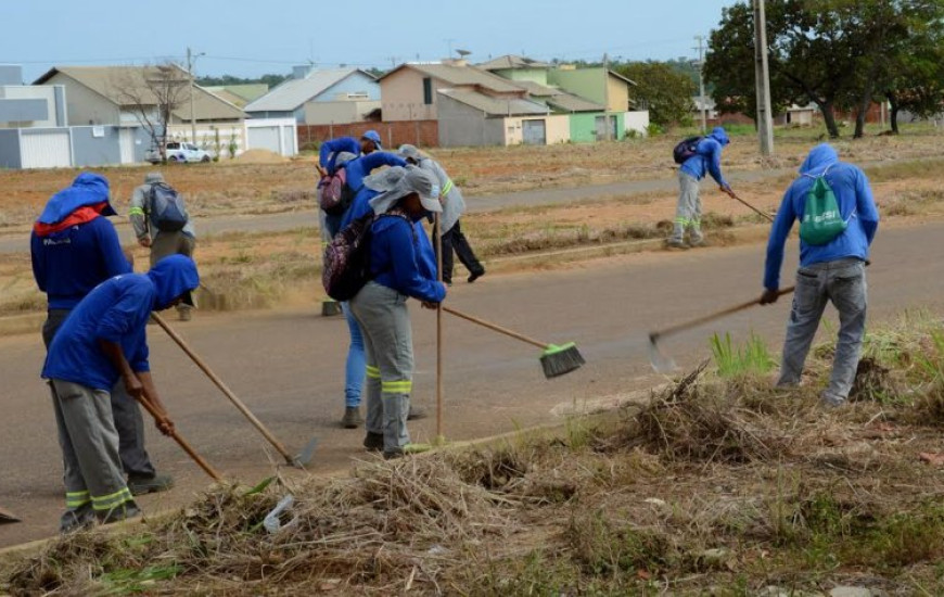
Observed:
[[[407,296],[368,282],[350,300],[367,356],[367,431],[382,433],[384,453],[410,442],[407,415],[413,376],[413,341]]]

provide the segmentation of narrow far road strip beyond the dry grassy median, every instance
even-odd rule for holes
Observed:
[[[764,178],[776,178],[792,173],[792,169],[756,170],[749,173],[730,173],[728,178],[737,187],[738,182],[756,181]],[[710,179],[703,182],[706,187],[713,186]],[[678,181],[674,170],[666,169],[664,178],[653,180],[628,180],[612,182],[609,185],[594,185],[574,188],[535,189],[532,191],[519,191],[514,193],[493,195],[470,195],[468,201],[469,213],[490,212],[503,207],[526,207],[537,205],[556,205],[561,203],[575,203],[581,201],[594,201],[601,198],[646,193],[652,191],[675,191]],[[123,243],[133,243],[135,234],[127,218],[112,218],[115,223]],[[278,214],[255,215],[229,215],[213,218],[196,218],[197,236],[219,234],[221,232],[279,232],[294,230],[303,226],[317,226],[318,217],[315,209],[297,209]],[[29,232],[24,230],[9,230],[0,232],[0,253],[18,253],[29,251]]]

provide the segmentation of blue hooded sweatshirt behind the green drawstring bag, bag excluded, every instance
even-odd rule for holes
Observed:
[[[813,245],[800,241],[800,266],[835,262],[845,258],[868,259],[869,245],[879,227],[879,212],[872,199],[871,187],[865,173],[852,164],[839,161],[839,154],[829,143],[813,148],[800,166],[803,175],[790,185],[777,211],[770,240],[767,242],[767,263],[764,288],[780,288],[780,266],[783,264],[783,243],[790,236],[793,220],[803,219],[806,195],[816,178],[826,173],[826,181],[835,193],[842,219],[849,223],[845,231],[827,244]]]

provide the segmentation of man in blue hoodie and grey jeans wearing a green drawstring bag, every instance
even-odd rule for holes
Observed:
[[[793,220],[800,225],[800,269],[787,323],[777,385],[800,383],[819,320],[831,302],[839,310],[839,338],[827,406],[845,404],[862,355],[868,306],[865,265],[879,226],[879,213],[865,173],[839,161],[828,143],[817,145],[800,166],[801,176],[783,196],[767,243],[761,304],[777,302],[783,243]]]

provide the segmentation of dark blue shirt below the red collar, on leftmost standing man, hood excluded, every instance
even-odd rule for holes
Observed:
[[[72,309],[99,283],[130,274],[115,227],[99,216],[40,237],[30,237],[33,276],[51,309]]]

